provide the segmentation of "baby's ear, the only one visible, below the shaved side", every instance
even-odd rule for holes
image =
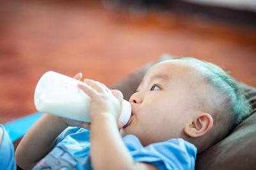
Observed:
[[[193,122],[184,127],[184,132],[193,138],[203,136],[207,131],[212,129],[213,120],[209,113],[198,114]]]

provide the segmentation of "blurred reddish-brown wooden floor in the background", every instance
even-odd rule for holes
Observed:
[[[256,87],[255,27],[58,2],[0,1],[1,124],[36,111],[33,92],[46,71],[111,86],[163,53],[213,62]]]

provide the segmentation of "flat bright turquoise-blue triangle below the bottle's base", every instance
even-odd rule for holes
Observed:
[[[12,122],[4,124],[6,131],[8,132],[12,141],[19,139],[24,136],[28,129],[33,125],[38,118],[40,118],[44,113],[33,113],[26,117],[19,118]]]

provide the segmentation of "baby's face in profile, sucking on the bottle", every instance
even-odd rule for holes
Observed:
[[[189,95],[199,86],[197,80],[198,72],[183,60],[152,67],[129,100],[133,116],[121,134],[134,134],[144,146],[182,138],[184,125],[196,112],[197,101]]]

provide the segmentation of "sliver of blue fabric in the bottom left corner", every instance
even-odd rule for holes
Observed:
[[[4,126],[0,124],[0,128],[3,129],[3,138],[0,146],[0,169],[16,169],[12,141],[10,140],[8,133],[4,129]]]

